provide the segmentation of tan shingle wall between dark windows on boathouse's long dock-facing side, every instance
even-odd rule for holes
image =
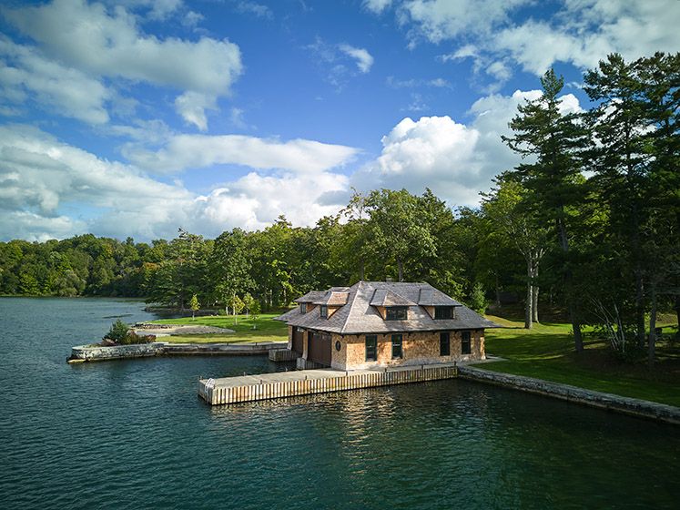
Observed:
[[[450,331],[451,355],[439,354],[439,331],[402,333],[403,358],[392,359],[391,333],[378,336],[378,359],[375,362],[366,361],[365,335],[332,335],[331,367],[338,370],[367,369],[371,367],[387,367],[399,365],[419,365],[430,363],[445,363],[462,360],[483,360],[484,334],[483,330],[471,331],[471,353],[461,353],[461,331]],[[335,348],[340,341],[340,351]]]

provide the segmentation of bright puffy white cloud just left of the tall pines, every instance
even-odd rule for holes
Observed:
[[[452,205],[478,205],[479,192],[520,162],[501,135],[510,134],[508,122],[517,106],[538,97],[538,90],[482,97],[470,108],[469,124],[451,117],[406,117],[382,138],[381,155],[352,176],[352,185],[365,190],[406,188],[413,193],[428,187]],[[576,97],[568,94],[562,99],[563,111],[579,111]]]

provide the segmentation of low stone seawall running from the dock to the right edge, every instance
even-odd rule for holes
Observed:
[[[572,403],[581,403],[592,407],[599,407],[608,411],[625,413],[642,418],[651,418],[666,423],[680,424],[680,408],[665,403],[655,403],[646,400],[639,400],[612,393],[594,392],[584,390],[568,384],[558,382],[548,382],[533,377],[523,377],[510,373],[491,372],[471,366],[458,367],[458,377],[470,381],[487,382],[521,390],[523,392],[535,393],[549,396]]]

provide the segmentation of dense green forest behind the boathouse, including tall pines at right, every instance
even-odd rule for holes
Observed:
[[[424,280],[476,309],[520,300],[528,328],[561,310],[576,351],[584,324],[623,349],[649,334],[653,356],[657,311],[680,315],[680,54],[609,56],[584,75],[588,111],[564,111],[552,70],[541,84],[503,138],[523,163],[497,176],[478,209],[452,209],[429,189],[381,189],[355,193],[313,228],[279,217],[215,240],[181,229],[150,244],[11,240],[0,243],[0,293],[182,308],[196,294],[209,308],[248,292],[270,309],[357,280]]]

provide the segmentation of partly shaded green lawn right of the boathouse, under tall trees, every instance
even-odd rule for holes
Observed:
[[[522,322],[488,317],[504,329],[486,331],[486,352],[507,361],[479,364],[478,368],[546,381],[562,382],[628,397],[680,407],[680,348],[660,342],[653,370],[644,362],[617,360],[604,342],[585,331],[585,351],[573,351],[571,325],[544,323],[524,330]],[[665,329],[670,332],[669,328]]]

